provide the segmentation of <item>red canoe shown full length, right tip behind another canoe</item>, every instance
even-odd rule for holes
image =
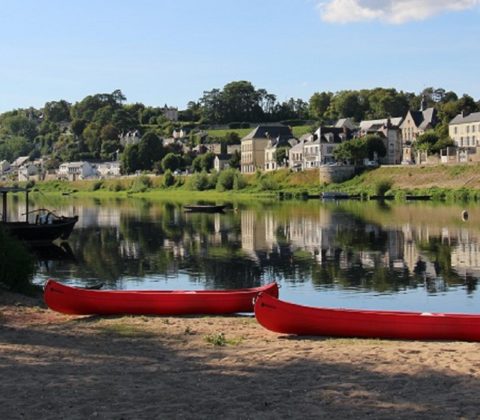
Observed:
[[[50,309],[70,315],[186,315],[253,312],[260,292],[278,297],[277,283],[250,289],[160,291],[91,290],[48,280],[44,300]]]

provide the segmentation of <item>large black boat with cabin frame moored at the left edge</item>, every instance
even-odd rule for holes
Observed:
[[[7,194],[10,192],[24,192],[26,197],[26,211],[24,221],[7,220]],[[26,242],[52,242],[55,239],[67,239],[72,233],[78,216],[66,217],[57,216],[48,209],[29,210],[27,188],[2,187],[2,217],[0,226],[2,226],[10,235],[15,236]],[[34,221],[30,221],[29,216],[35,214]]]

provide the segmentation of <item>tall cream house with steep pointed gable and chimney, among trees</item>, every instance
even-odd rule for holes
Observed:
[[[437,111],[435,108],[427,108],[426,98],[422,98],[420,110],[408,111],[400,124],[402,133],[402,163],[413,163],[416,161],[412,154],[412,146],[415,139],[433,129],[438,123]]]

